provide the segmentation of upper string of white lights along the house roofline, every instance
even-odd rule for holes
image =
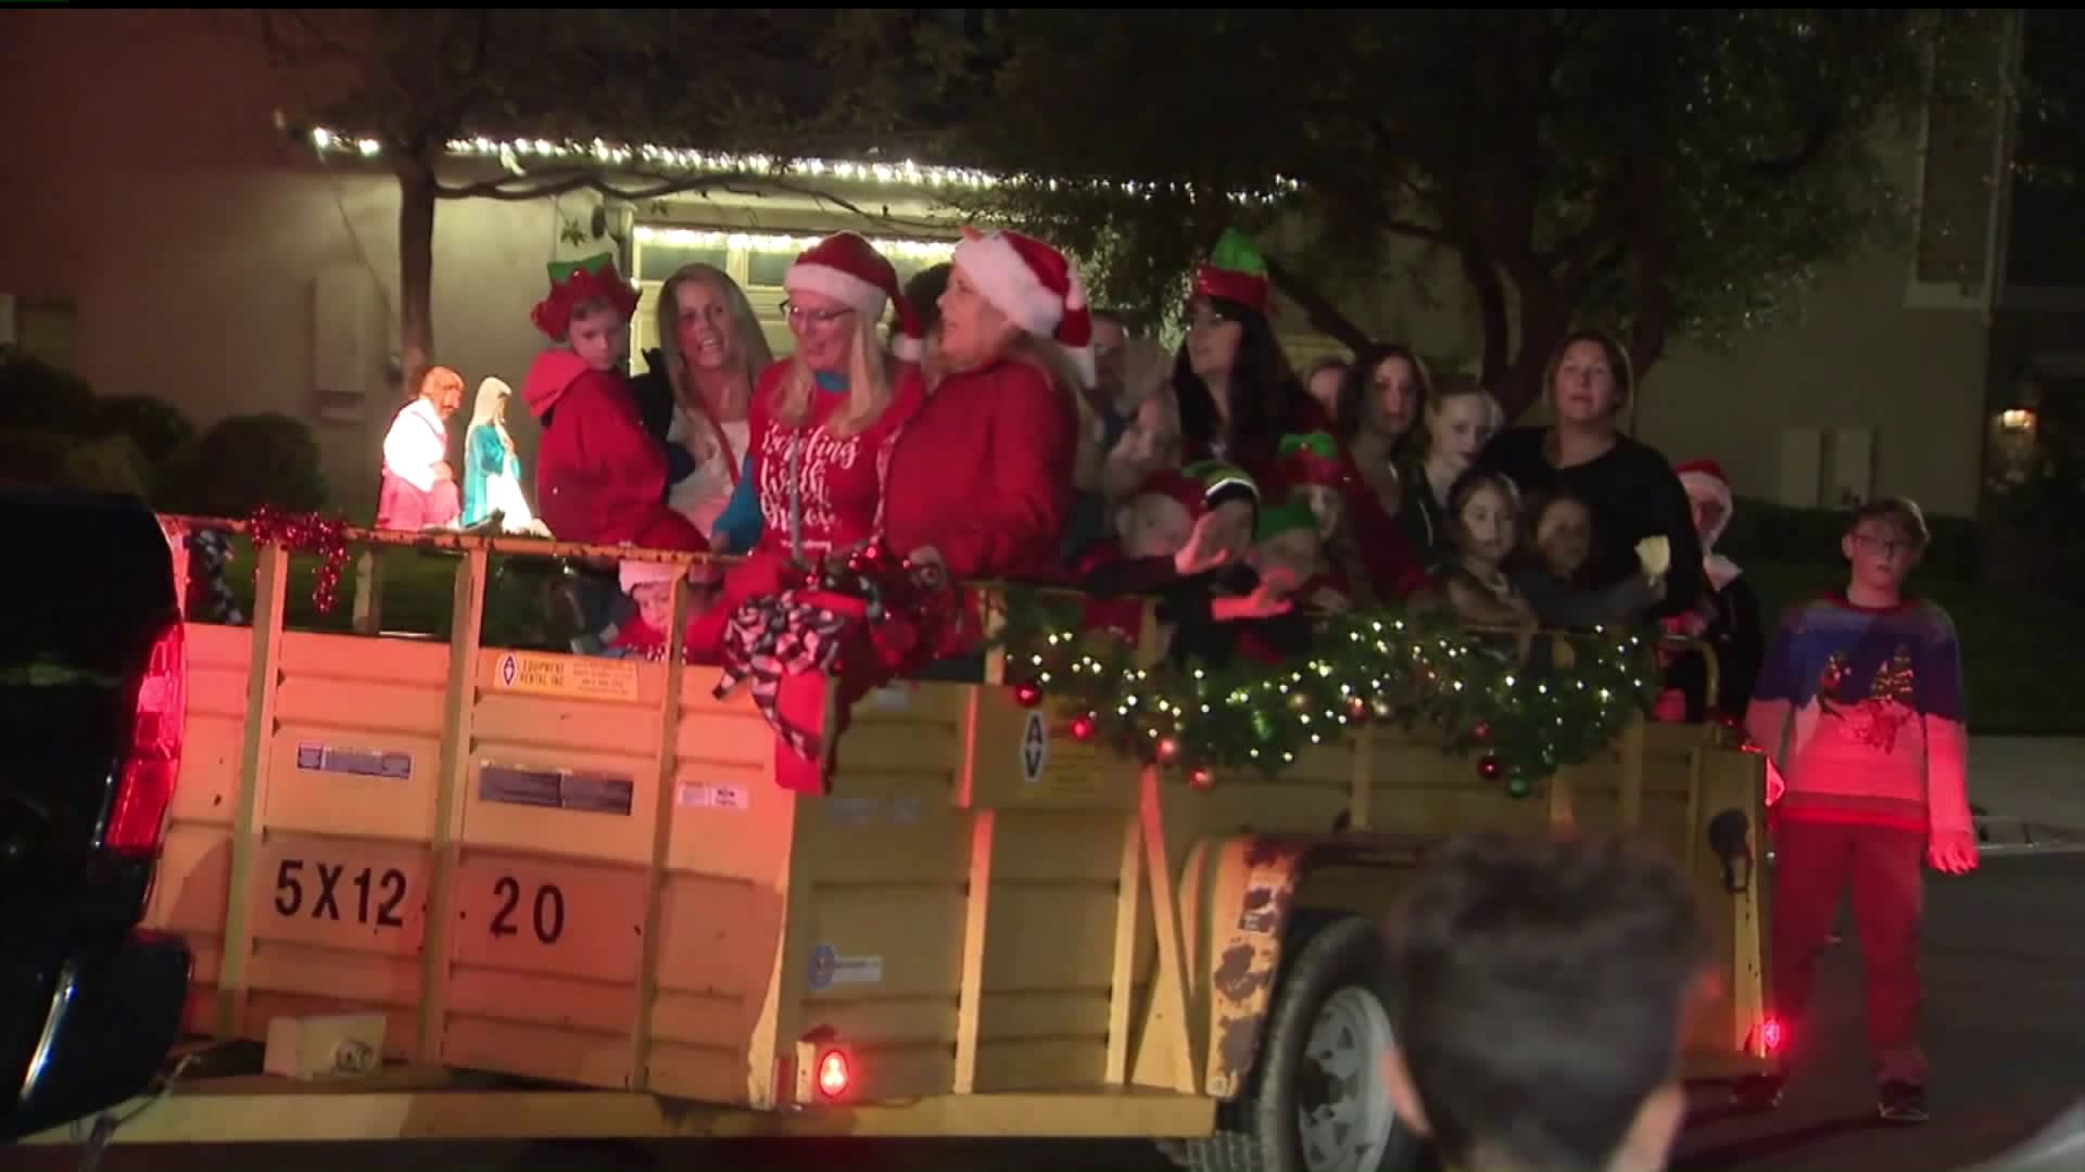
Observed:
[[[332,154],[361,154],[373,158],[382,154],[382,144],[373,138],[357,138],[336,129],[317,127],[311,144]],[[847,163],[832,158],[780,158],[774,154],[730,154],[719,150],[686,150],[657,144],[617,144],[607,140],[548,140],[548,138],[455,138],[448,152],[463,158],[496,158],[513,173],[523,173],[528,163],[592,163],[603,167],[642,167],[648,171],[696,171],[696,173],[767,173],[778,177],[844,179],[855,184],[905,186],[905,188],[997,188],[1028,175],[995,175],[976,167],[936,167],[928,163]],[[1059,179],[1045,179],[1051,190]],[[1159,190],[1180,190],[1180,184],[1107,184],[1126,194],[1155,194]],[[1232,194],[1241,202],[1274,202],[1280,196],[1301,190],[1301,184],[1284,175],[1272,179],[1274,190],[1255,194]]]

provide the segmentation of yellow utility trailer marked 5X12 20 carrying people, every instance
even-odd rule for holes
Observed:
[[[238,528],[169,517],[177,561],[190,526]],[[371,555],[357,632],[284,630],[279,544],[252,626],[188,628],[148,926],[194,947],[196,1049],[286,1074],[190,1066],[119,1143],[1153,1137],[1397,1168],[1376,924],[1443,836],[1545,824],[1687,865],[1728,966],[1689,1074],[1764,1068],[1764,759],[1720,728],[1637,719],[1524,799],[1376,726],[1195,788],[1013,688],[919,682],[855,705],[799,797],[717,669],[482,638],[496,553],[688,555],[346,536],[452,559],[450,636],[379,632]]]

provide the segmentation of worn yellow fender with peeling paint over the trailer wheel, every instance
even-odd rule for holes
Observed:
[[[1211,845],[1207,1095],[1232,1099],[1245,1091],[1303,880],[1322,868],[1409,870],[1428,845],[1366,832],[1241,834]]]

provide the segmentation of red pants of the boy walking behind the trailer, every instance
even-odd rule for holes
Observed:
[[[1854,934],[1868,984],[1868,1051],[1881,1082],[1927,1080],[1918,1049],[1920,865],[1927,836],[1891,826],[1783,820],[1774,830],[1774,1011],[1791,1057],[1808,1036],[1804,1011],[1818,953],[1854,888]]]

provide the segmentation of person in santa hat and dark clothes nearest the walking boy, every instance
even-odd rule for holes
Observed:
[[[1766,636],[1751,582],[1735,561],[1716,553],[1716,538],[1731,526],[1731,480],[1710,459],[1689,461],[1672,471],[1687,490],[1695,532],[1701,534],[1701,571],[1708,584],[1699,603],[1664,619],[1664,626],[1668,634],[1697,638],[1716,651],[1716,709],[1708,707],[1708,665],[1699,653],[1687,651],[1666,667],[1668,701],[1660,705],[1660,715],[1676,717],[1674,701],[1685,699],[1689,722],[1743,719],[1766,657]]]

